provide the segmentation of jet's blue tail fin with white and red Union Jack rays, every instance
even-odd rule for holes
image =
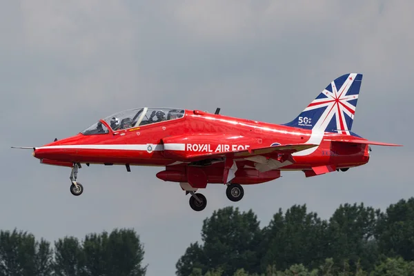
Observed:
[[[338,77],[299,116],[284,126],[349,135],[361,82],[362,74],[351,73]]]

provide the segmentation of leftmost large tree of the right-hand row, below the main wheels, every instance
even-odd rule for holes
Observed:
[[[259,221],[252,210],[241,213],[238,208],[227,207],[215,211],[204,220],[201,239],[204,242],[201,250],[193,245],[191,250],[186,250],[187,255],[179,259],[177,275],[188,275],[188,270],[193,269],[191,264],[200,264],[202,273],[208,272],[206,268],[221,268],[223,276],[231,276],[239,268],[248,273],[259,270],[257,252],[262,238]],[[201,259],[189,262],[188,253]]]

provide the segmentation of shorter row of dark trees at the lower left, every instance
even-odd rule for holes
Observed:
[[[55,242],[34,235],[0,231],[0,276],[143,276],[144,247],[131,229],[92,233],[80,242],[64,237]]]

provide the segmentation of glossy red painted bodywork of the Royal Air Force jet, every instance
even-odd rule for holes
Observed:
[[[162,166],[166,170],[157,174],[160,179],[175,182],[188,181],[199,188],[204,188],[207,183],[223,182],[224,162],[220,159],[224,157],[235,160],[238,169],[231,182],[238,184],[259,184],[277,179],[280,177],[280,170],[308,170],[307,174],[312,175],[315,173],[313,168],[317,168],[319,172],[326,166],[334,169],[349,168],[361,166],[369,160],[367,140],[358,138],[357,143],[352,143],[355,137],[351,135],[324,132],[319,146],[311,148],[311,153],[307,155],[290,155],[295,152],[294,149],[276,150],[259,155],[267,159],[281,161],[288,159],[294,162],[282,168],[259,172],[255,169],[255,161],[244,158],[249,155],[249,152],[270,148],[273,143],[282,146],[312,144],[309,141],[312,131],[214,115],[198,110],[185,110],[184,116],[180,119],[116,132],[111,130],[107,121],[101,120],[101,122],[108,128],[108,133],[99,135],[79,133],[36,148],[34,157],[43,159],[45,164],[61,164],[61,166],[69,166],[68,164],[73,163]],[[57,148],[47,148],[48,146],[57,146]],[[59,148],[59,146],[72,146],[72,148]],[[96,146],[101,148],[94,148]],[[108,146],[112,148],[105,148]],[[128,146],[132,148],[121,149]],[[237,155],[238,151],[244,151],[244,155]],[[213,161],[213,165],[192,167],[188,170],[190,161],[206,160]]]

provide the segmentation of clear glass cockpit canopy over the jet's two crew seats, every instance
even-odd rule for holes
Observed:
[[[135,108],[124,110],[103,119],[113,131],[136,128],[184,117],[184,109],[176,108]],[[81,132],[83,135],[106,134],[109,130],[101,121]]]

